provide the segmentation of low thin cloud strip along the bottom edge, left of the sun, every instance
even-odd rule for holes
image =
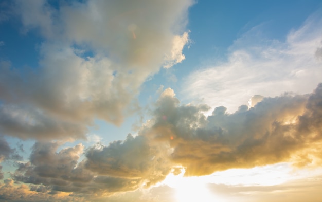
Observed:
[[[168,186],[153,187],[150,190],[136,190],[132,192],[123,192],[112,196],[86,196],[84,194],[66,194],[63,192],[48,191],[45,186],[17,185],[14,180],[4,180],[0,183],[0,201],[60,201],[60,202],[85,202],[85,201],[174,201],[174,189]]]

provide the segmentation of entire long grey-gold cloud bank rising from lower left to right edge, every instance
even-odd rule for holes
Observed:
[[[38,142],[12,177],[48,191],[102,196],[149,187],[178,166],[187,176],[278,162],[316,167],[322,163],[321,103],[319,84],[311,94],[266,97],[232,114],[221,106],[205,116],[209,106],[181,105],[167,88],[137,136],[97,143],[80,162],[81,144],[57,152],[60,143]]]

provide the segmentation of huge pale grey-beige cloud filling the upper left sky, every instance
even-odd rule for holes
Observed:
[[[43,43],[39,67],[0,64],[1,132],[75,139],[95,118],[120,125],[138,109],[140,85],[184,59],[192,3],[16,1],[25,31]]]

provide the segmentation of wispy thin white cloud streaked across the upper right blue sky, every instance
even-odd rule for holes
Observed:
[[[192,72],[182,85],[186,99],[203,99],[212,107],[224,105],[231,113],[253,95],[309,93],[322,77],[320,13],[290,31],[285,41],[267,39],[264,26],[253,27],[234,41],[227,61]]]

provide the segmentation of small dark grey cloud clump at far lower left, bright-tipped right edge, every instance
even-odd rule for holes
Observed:
[[[78,144],[73,148],[66,148],[57,153],[59,146],[60,144],[57,142],[35,143],[30,161],[19,163],[19,168],[12,175],[13,178],[25,183],[56,186],[57,189],[66,187],[66,190],[75,189],[72,186],[74,181],[80,185],[83,182],[90,181],[93,175],[83,171],[81,163],[79,167],[76,167],[84,146]]]

